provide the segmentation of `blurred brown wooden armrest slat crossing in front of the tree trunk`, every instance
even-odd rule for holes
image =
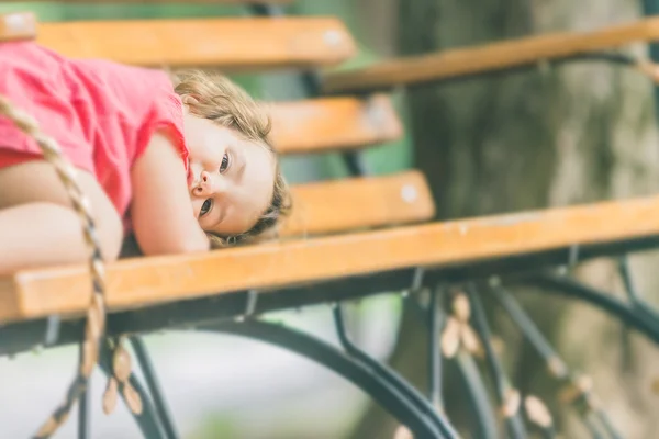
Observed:
[[[327,93],[380,90],[440,81],[657,40],[659,18],[652,18],[594,32],[552,33],[391,59],[370,67],[327,74],[323,90]]]

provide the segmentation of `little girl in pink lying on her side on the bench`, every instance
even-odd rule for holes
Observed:
[[[105,260],[203,251],[272,230],[290,209],[265,111],[222,76],[70,59],[0,44],[0,94],[78,171]],[[81,262],[79,219],[41,149],[0,116],[0,275]]]

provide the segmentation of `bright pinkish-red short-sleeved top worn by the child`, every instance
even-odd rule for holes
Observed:
[[[0,93],[35,117],[74,166],[96,175],[127,229],[130,170],[155,130],[169,130],[188,170],[181,101],[164,71],[69,59],[33,42],[2,43]],[[4,156],[41,156],[36,143],[2,116],[0,139]],[[0,157],[0,168],[7,161]]]

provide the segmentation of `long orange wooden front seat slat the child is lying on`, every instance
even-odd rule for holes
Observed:
[[[272,289],[395,268],[442,267],[580,244],[659,235],[659,196],[522,212],[186,256],[127,259],[107,268],[110,309],[246,289]],[[0,322],[81,313],[83,266],[0,280]]]

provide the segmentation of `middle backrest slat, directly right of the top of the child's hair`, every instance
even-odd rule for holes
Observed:
[[[355,149],[400,138],[403,126],[386,95],[313,99],[271,105],[281,154]]]

